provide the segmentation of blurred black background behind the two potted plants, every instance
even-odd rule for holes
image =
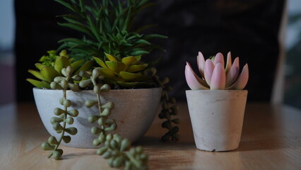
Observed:
[[[170,84],[175,89],[172,95],[179,100],[185,100],[184,90],[188,89],[188,86],[184,79],[184,66],[188,61],[196,68],[197,52],[201,51],[205,57],[209,57],[216,55],[217,52],[226,55],[231,51],[232,58],[240,57],[240,67],[245,63],[249,64],[250,75],[246,88],[249,90],[248,100],[271,101],[281,51],[278,35],[285,8],[284,0],[158,2],[160,4],[141,13],[136,25],[158,24],[151,33],[160,33],[169,37],[167,40],[158,41],[167,52],[156,51],[147,58],[151,60],[163,57],[158,64],[158,72],[161,77],[170,77]],[[25,81],[30,77],[27,70],[33,69],[35,62],[45,55],[47,50],[55,50],[59,46],[58,40],[74,37],[76,33],[57,26],[59,18],[55,16],[67,11],[52,0],[15,0],[14,7],[16,10],[14,41],[16,100],[31,101],[33,86]],[[290,13],[288,14],[290,16]],[[290,24],[300,19],[288,21]],[[294,66],[297,62],[300,63],[300,57],[297,57],[301,53],[300,44],[299,38],[299,41],[290,47],[285,65],[285,71],[287,68],[290,69],[290,72],[285,72],[287,77],[285,102],[294,106],[300,106],[301,103],[300,91],[299,94],[290,92],[294,88],[299,89],[297,87],[300,86],[300,70]],[[287,67],[288,65],[290,67]]]

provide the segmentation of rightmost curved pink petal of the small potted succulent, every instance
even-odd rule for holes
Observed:
[[[242,69],[242,73],[240,74],[240,77],[238,77],[237,81],[235,81],[235,83],[229,86],[227,89],[242,90],[247,85],[248,79],[249,79],[249,66],[248,64],[245,64],[244,68]]]

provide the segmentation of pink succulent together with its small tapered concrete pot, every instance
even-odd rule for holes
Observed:
[[[186,91],[189,115],[196,147],[211,152],[237,149],[242,133],[249,68],[239,75],[239,57],[231,61],[228,52],[224,64],[221,53],[206,61],[199,52],[197,64],[201,77],[187,62],[185,77],[191,90]],[[224,68],[225,65],[225,68]]]

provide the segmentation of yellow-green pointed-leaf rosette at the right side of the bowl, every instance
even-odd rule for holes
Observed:
[[[141,62],[141,55],[123,57],[122,59],[105,53],[106,60],[94,57],[100,65],[100,72],[105,81],[123,88],[154,87],[152,77],[143,74],[148,64]]]

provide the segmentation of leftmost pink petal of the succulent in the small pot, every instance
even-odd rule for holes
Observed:
[[[203,80],[194,73],[188,62],[185,66],[185,78],[191,90],[208,90],[208,87],[201,84],[200,81]]]

